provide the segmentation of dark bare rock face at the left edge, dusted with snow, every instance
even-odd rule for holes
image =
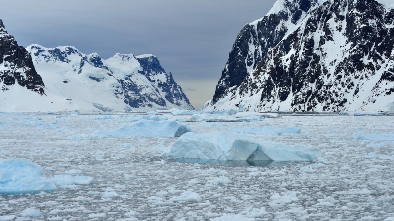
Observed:
[[[7,33],[0,19],[0,89],[4,92],[15,84],[45,95],[44,82],[35,71],[32,57]]]

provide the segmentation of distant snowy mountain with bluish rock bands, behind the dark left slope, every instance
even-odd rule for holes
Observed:
[[[27,47],[48,90],[103,111],[193,109],[171,73],[153,55],[117,53],[102,59],[71,46]],[[179,95],[175,97],[175,95]]]

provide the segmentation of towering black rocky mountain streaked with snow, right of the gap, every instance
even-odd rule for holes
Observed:
[[[394,111],[390,0],[278,0],[238,34],[202,109]]]

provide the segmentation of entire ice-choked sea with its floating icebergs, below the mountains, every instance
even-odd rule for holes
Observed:
[[[394,115],[1,112],[4,220],[393,221]]]

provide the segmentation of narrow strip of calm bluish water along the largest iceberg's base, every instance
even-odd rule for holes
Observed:
[[[266,160],[211,160],[211,159],[194,159],[194,158],[177,158],[177,162],[197,163],[197,164],[216,164],[227,166],[259,166],[259,167],[279,167],[296,164],[310,164],[310,162],[294,162],[294,161],[266,161]]]

